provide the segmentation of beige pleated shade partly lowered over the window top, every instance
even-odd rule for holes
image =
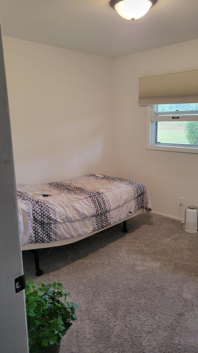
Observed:
[[[139,105],[198,102],[198,70],[139,79]]]

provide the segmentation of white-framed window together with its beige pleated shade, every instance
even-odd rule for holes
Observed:
[[[147,149],[198,153],[198,70],[139,79]]]

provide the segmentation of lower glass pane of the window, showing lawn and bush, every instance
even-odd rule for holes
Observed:
[[[198,121],[158,121],[156,143],[198,145]]]

